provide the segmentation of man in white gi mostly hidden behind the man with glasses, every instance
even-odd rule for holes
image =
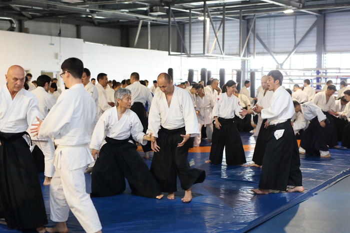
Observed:
[[[96,88],[95,85],[93,85],[91,82],[90,82],[90,76],[91,76],[91,72],[89,69],[87,68],[84,68],[84,72],[82,73],[82,76],[81,76],[81,83],[84,85],[84,89],[87,91],[87,93],[92,97],[93,101],[95,102],[96,104],[96,116],[95,116],[95,119],[93,120],[93,123],[92,123],[92,127],[91,127],[91,130],[90,130],[90,139],[91,139],[91,136],[92,136],[92,133],[93,133],[93,129],[95,128],[95,125],[98,121],[98,118],[99,118],[99,115],[98,115],[98,90]],[[92,168],[93,168],[93,165],[95,164],[95,161],[93,161],[87,168],[86,168],[86,171],[85,173],[90,173],[92,171]]]

